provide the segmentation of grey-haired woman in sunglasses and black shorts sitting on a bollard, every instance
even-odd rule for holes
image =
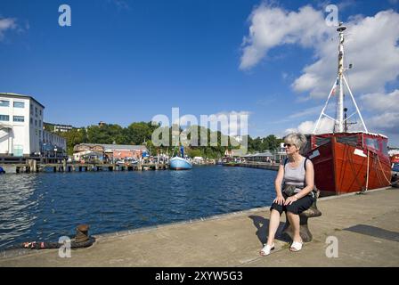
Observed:
[[[303,134],[289,134],[284,139],[284,147],[288,155],[281,161],[275,180],[277,198],[271,207],[269,236],[260,255],[267,256],[274,248],[274,236],[280,224],[282,212],[286,212],[289,224],[294,229],[291,251],[299,251],[303,241],[299,235],[299,214],[310,208],[314,203],[314,165],[310,159],[305,159],[300,150],[305,146]],[[281,191],[281,184],[283,185]]]

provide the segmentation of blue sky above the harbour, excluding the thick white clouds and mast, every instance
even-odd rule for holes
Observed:
[[[71,27],[58,25],[61,4],[71,7]],[[299,16],[296,25],[305,23],[301,9],[308,6],[314,23],[320,24],[317,15],[328,14],[323,12],[327,4],[337,4],[340,20],[357,28],[368,27],[367,17],[375,18],[376,27],[386,18],[396,20],[399,5],[395,0],[4,0],[0,2],[0,92],[34,96],[46,107],[45,121],[53,123],[88,126],[102,120],[127,126],[150,121],[157,114],[171,117],[172,107],[179,107],[181,115],[198,118],[248,112],[251,136],[283,135],[318,118],[328,94],[317,94],[322,86],[298,87],[298,78],[308,73],[306,66],[323,59],[328,46],[337,49],[334,38],[310,45],[300,39],[290,43],[287,38],[301,37],[303,31],[284,28],[284,23],[289,12]],[[255,25],[252,16],[270,11],[283,12],[281,24],[273,22],[276,26],[261,30],[281,28],[285,36],[267,47],[257,45],[257,36],[249,34]],[[377,16],[384,11],[390,12]],[[5,20],[12,25],[5,25]],[[395,32],[391,34],[390,39],[399,40]],[[397,42],[392,45],[396,59]],[[263,56],[243,68],[246,46],[255,46]],[[348,42],[348,54],[350,50]],[[318,81],[328,82],[325,88],[330,90],[336,61],[323,68],[331,70],[332,77],[327,73]],[[399,146],[399,113],[390,110],[387,117],[384,108],[371,104],[373,98],[390,105],[399,102],[399,91],[395,93],[399,71],[387,66],[380,70],[390,77],[376,78],[376,88],[353,91],[370,130],[388,134]],[[349,78],[359,85],[353,82],[355,75]],[[381,121],[389,124],[382,126]]]

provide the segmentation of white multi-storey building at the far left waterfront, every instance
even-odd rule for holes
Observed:
[[[45,106],[31,96],[0,93],[0,155],[39,155]]]

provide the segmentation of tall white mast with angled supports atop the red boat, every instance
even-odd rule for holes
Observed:
[[[362,118],[362,114],[361,114],[359,108],[357,107],[356,102],[354,101],[354,94],[352,94],[351,88],[347,84],[346,77],[345,77],[345,74],[344,74],[344,72],[347,70],[346,68],[344,68],[344,42],[345,42],[344,31],[345,30],[346,30],[346,26],[344,26],[343,23],[340,22],[339,26],[337,28],[338,35],[339,35],[338,74],[337,74],[336,80],[334,81],[334,84],[331,87],[329,97],[327,98],[327,102],[324,104],[324,107],[322,109],[322,113],[320,114],[319,119],[317,120],[317,124],[314,127],[313,134],[317,134],[317,131],[318,131],[318,128],[319,128],[319,126],[320,126],[320,124],[322,122],[323,116],[326,117],[326,118],[330,118],[331,120],[333,120],[335,122],[334,131],[333,131],[334,133],[346,132],[346,129],[347,129],[346,121],[347,121],[347,119],[351,118],[356,113],[359,114],[359,117],[360,117],[360,119],[362,121],[362,126],[363,126],[364,130],[366,131],[366,133],[368,133],[367,127],[364,124],[364,121],[363,121],[363,118]],[[348,69],[351,69],[351,68],[352,68],[352,64],[349,65]],[[344,96],[345,96],[344,95],[344,84],[346,85],[346,88],[349,91],[349,94],[351,95],[352,102],[354,102],[354,107],[356,108],[356,111],[354,111],[354,113],[352,115],[350,115],[349,117],[346,117],[346,115],[344,114],[344,110],[346,109],[344,107]],[[327,105],[329,104],[331,96],[336,93],[337,89],[338,89],[337,118],[331,118],[324,111],[326,110]]]

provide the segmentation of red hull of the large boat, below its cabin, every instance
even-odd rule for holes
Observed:
[[[390,184],[389,160],[385,156],[337,142],[335,137],[314,148],[308,157],[314,163],[314,183],[321,196],[377,189]]]

